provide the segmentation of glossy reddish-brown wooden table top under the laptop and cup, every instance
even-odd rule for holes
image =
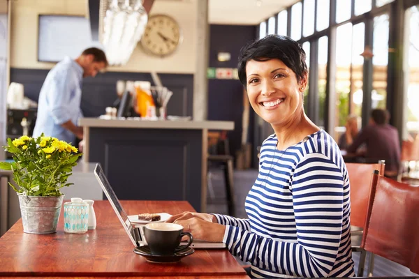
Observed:
[[[122,201],[130,214],[194,211],[188,202]],[[226,249],[196,250],[174,264],[152,264],[133,252],[108,201],[94,204],[97,227],[86,234],[64,233],[63,213],[55,234],[25,234],[18,220],[0,238],[0,276],[133,277],[216,276],[246,278],[242,266]]]

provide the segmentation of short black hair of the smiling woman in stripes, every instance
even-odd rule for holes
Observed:
[[[279,59],[291,68],[301,82],[307,73],[306,54],[301,45],[286,36],[269,35],[248,43],[240,50],[237,66],[240,82],[246,86],[246,64],[250,60],[267,61]]]

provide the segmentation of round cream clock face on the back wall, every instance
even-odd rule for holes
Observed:
[[[141,45],[145,50],[157,56],[172,54],[181,43],[179,24],[168,15],[149,17]]]

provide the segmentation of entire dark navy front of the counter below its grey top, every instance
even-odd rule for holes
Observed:
[[[89,143],[120,199],[187,200],[200,211],[202,130],[90,128]]]

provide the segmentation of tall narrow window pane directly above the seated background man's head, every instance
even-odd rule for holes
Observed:
[[[388,15],[374,17],[372,108],[385,108],[387,98]]]

